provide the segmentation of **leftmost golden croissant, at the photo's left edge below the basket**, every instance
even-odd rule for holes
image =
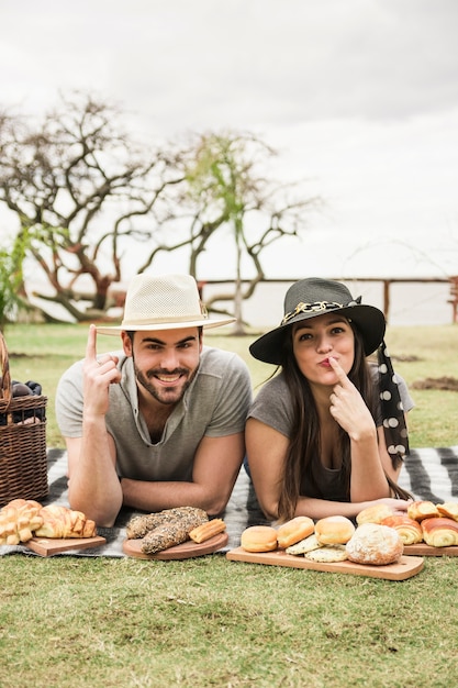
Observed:
[[[32,540],[43,523],[42,504],[32,499],[13,499],[0,510],[0,545],[19,545]]]

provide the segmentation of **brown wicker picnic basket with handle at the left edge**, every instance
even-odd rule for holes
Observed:
[[[47,397],[12,396],[8,349],[1,332],[0,363],[0,507],[19,498],[40,501],[48,495]]]

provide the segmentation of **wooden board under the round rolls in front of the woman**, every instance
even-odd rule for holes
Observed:
[[[333,563],[311,562],[303,556],[287,554],[284,550],[254,553],[245,552],[242,547],[227,552],[226,558],[232,562],[290,566],[292,568],[308,568],[334,574],[353,574],[354,576],[368,576],[369,578],[386,578],[387,580],[405,580],[405,578],[411,578],[418,574],[424,565],[423,558],[417,556],[402,555],[395,564],[373,566],[370,564],[354,564],[348,559]]]

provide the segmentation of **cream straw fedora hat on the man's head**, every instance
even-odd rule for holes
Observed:
[[[142,273],[129,286],[121,325],[98,326],[97,331],[100,334],[118,334],[123,330],[217,328],[234,321],[235,318],[209,318],[191,275],[153,277]]]

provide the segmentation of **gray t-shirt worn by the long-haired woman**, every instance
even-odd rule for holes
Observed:
[[[377,384],[377,366],[371,365],[370,370]],[[396,380],[404,411],[411,411],[414,407],[414,402],[409,393],[407,386],[398,374]],[[282,435],[287,437],[291,436],[293,421],[292,400],[282,373],[268,380],[259,390],[248,412],[248,418],[256,418],[258,421],[273,428],[273,430],[277,430]],[[382,425],[380,409],[375,420],[377,426]],[[303,477],[301,495],[333,501],[348,501],[347,489],[343,481],[344,475],[340,469],[326,468],[321,460],[316,460],[313,465],[313,477],[319,489],[313,490],[312,485],[310,482],[306,484],[306,479]]]

